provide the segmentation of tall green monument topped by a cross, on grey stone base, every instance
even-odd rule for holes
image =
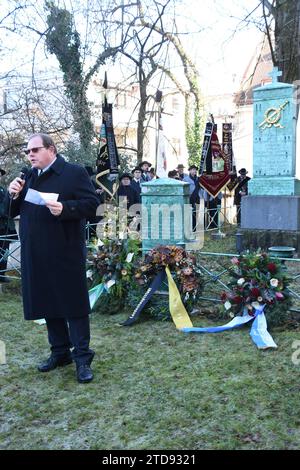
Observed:
[[[247,247],[300,248],[300,181],[296,179],[295,87],[278,82],[253,91],[253,178],[242,198],[241,228]]]

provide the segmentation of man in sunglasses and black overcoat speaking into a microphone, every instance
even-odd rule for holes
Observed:
[[[95,214],[98,199],[87,171],[57,154],[51,137],[34,134],[27,147],[32,169],[25,181],[15,178],[8,191],[12,217],[20,214],[24,317],[45,318],[51,346],[38,370],[49,372],[74,360],[78,382],[90,382],[94,351],[89,348],[85,222]],[[58,199],[29,202],[29,190],[56,193]]]

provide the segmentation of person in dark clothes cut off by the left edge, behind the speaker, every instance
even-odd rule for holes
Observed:
[[[0,168],[0,178],[5,175],[5,171]],[[15,232],[15,224],[13,219],[9,219],[6,215],[6,199],[7,190],[0,186],[0,283],[8,282],[5,277],[5,271],[7,269],[7,258],[4,259],[6,250],[9,248],[9,241],[7,240],[8,235]],[[3,238],[1,238],[3,237]],[[5,240],[6,239],[6,240]]]

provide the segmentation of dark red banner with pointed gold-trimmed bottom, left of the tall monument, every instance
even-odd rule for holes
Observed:
[[[204,137],[205,141],[205,137]],[[212,155],[212,168],[203,165],[203,173],[200,172],[199,183],[212,197],[216,197],[230,181],[226,159],[219,144],[215,129],[213,129],[210,149]],[[200,165],[201,169],[201,165]]]

